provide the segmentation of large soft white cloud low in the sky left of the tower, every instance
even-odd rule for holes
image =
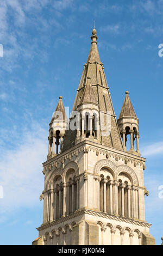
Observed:
[[[47,155],[47,131],[34,123],[32,129],[24,130],[18,137],[15,149],[3,148],[0,159],[0,185],[4,193],[0,199],[1,215],[5,212],[8,216],[14,209],[39,204],[43,190],[42,162]]]

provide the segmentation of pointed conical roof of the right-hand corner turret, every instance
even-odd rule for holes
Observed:
[[[121,113],[120,116],[118,117],[118,119],[122,118],[122,117],[136,117],[133,105],[131,104],[130,98],[129,98],[129,92],[126,91],[126,97],[124,99],[123,102],[123,106],[121,109]]]

